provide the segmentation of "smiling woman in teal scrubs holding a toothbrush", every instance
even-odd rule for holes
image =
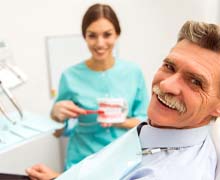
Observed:
[[[66,124],[64,135],[70,136],[65,169],[146,120],[148,97],[140,68],[113,56],[120,33],[118,18],[109,5],[95,4],[88,8],[82,20],[82,35],[91,56],[62,73],[59,94],[51,111],[55,121]],[[99,122],[97,114],[88,113],[99,112],[97,100],[102,98],[125,102],[128,112],[123,122]],[[78,121],[67,131],[71,118]]]

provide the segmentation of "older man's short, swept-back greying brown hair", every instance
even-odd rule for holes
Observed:
[[[187,39],[200,47],[220,52],[220,26],[204,22],[187,21],[181,28],[178,42]]]

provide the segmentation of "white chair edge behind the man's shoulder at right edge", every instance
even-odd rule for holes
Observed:
[[[215,144],[217,157],[218,157],[215,180],[220,180],[220,117],[218,117],[217,120],[214,122],[211,130],[211,135]]]

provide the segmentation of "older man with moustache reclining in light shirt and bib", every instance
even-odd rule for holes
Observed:
[[[217,158],[208,125],[219,115],[220,27],[188,21],[154,77],[148,124],[140,124],[138,133],[123,136],[122,140],[118,139],[97,155],[72,167],[66,176],[64,173],[58,179],[215,179]],[[139,136],[131,142],[135,134]],[[132,156],[138,156],[135,150],[132,155],[127,153],[130,148],[124,148],[128,144],[135,146],[135,141],[140,144],[142,154],[136,161],[135,158],[131,160]],[[119,152],[120,148],[120,156],[110,153],[116,149]],[[103,164],[98,166],[96,162],[104,156],[108,157],[107,161],[100,161]],[[127,163],[126,170],[121,162]],[[92,166],[97,169],[91,171]],[[120,168],[122,173],[117,171]],[[109,169],[113,175],[108,174]],[[27,172],[42,180],[58,176],[42,165]]]

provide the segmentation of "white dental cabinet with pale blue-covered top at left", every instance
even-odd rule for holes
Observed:
[[[25,169],[36,163],[44,163],[61,172],[63,157],[60,140],[53,136],[53,131],[62,125],[33,113],[25,112],[24,114],[26,119],[19,126],[29,130],[33,126],[32,130],[35,133],[24,133],[19,127],[14,128],[16,133],[9,129],[7,130],[9,135],[0,137],[5,141],[5,144],[0,143],[0,172],[25,174]],[[0,123],[3,122],[4,120],[0,118]],[[4,134],[3,131],[0,131],[1,133]],[[13,140],[7,144],[10,138]]]

